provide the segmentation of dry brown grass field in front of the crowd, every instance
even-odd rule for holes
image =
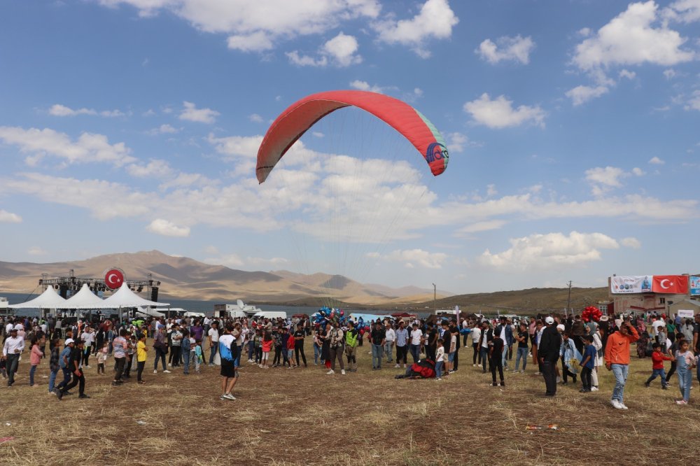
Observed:
[[[386,362],[372,371],[368,351],[360,348],[358,372],[345,376],[315,366],[308,339],[307,369],[265,370],[244,360],[236,401],[219,400],[218,367],[153,374],[151,356],[145,385],[134,372],[112,387],[93,362],[90,400],[78,400],[76,388],[59,402],[48,394],[48,360],[38,385],[28,386],[25,355],[15,386],[0,380],[0,439],[13,437],[0,443],[0,464],[689,465],[700,454],[697,382],[691,404],[679,407],[675,376],[669,390],[658,379],[643,386],[650,359],[633,358],[629,411],[618,411],[604,368],[600,392],[582,394],[580,381],[569,382],[545,399],[532,365],[527,374],[507,373],[505,388],[492,387],[491,374],[472,367],[471,348],[442,381],[395,380],[403,369]],[[528,424],[558,430],[528,431]]]

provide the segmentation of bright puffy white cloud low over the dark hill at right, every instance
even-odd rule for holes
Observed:
[[[510,239],[510,249],[477,258],[485,267],[500,271],[566,269],[601,260],[601,249],[617,249],[615,239],[602,233],[571,232],[531,234]]]

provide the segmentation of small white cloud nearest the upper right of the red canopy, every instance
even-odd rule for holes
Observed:
[[[479,99],[464,104],[464,111],[472,115],[479,125],[489,128],[507,128],[531,123],[545,126],[545,111],[539,106],[521,105],[513,108],[513,102],[500,95],[491,100],[489,94],[482,94]]]

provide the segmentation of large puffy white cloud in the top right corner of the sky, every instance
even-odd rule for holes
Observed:
[[[694,59],[692,50],[681,48],[686,39],[660,22],[657,10],[654,1],[630,3],[594,36],[576,46],[573,62],[588,71],[643,63],[671,66]]]

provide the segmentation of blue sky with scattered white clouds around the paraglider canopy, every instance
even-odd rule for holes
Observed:
[[[156,248],[458,293],[697,271],[700,0],[1,8],[1,260]],[[447,171],[343,110],[258,185],[269,123],[337,89],[415,106]]]

